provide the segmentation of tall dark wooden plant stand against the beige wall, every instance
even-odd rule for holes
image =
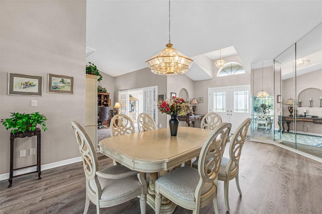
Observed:
[[[40,143],[41,143],[41,130],[39,128],[36,128],[35,131],[26,131],[26,132],[16,132],[15,134],[10,133],[10,173],[9,173],[9,187],[12,186],[12,179],[17,176],[14,176],[14,171],[18,169],[24,169],[32,166],[25,166],[21,168],[14,169],[14,148],[15,148],[15,138],[25,138],[25,137],[32,137],[37,136],[37,164],[32,166],[37,166],[37,170],[33,172],[28,172],[21,175],[26,175],[34,172],[38,172],[38,179],[41,179],[41,159],[40,159]]]

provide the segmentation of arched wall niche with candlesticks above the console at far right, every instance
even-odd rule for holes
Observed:
[[[306,88],[298,93],[297,102],[301,100],[301,107],[319,107],[322,90],[318,88]],[[312,106],[310,106],[310,98]]]

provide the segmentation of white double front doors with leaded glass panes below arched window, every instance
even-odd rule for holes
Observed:
[[[250,113],[250,85],[208,88],[208,113],[217,113],[222,122],[231,123],[231,133]],[[249,130],[250,132],[250,130]]]

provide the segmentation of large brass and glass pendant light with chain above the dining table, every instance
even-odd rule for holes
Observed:
[[[170,0],[169,0],[169,43],[163,49],[145,63],[151,72],[159,75],[179,75],[187,73],[193,60],[172,47],[170,41]]]

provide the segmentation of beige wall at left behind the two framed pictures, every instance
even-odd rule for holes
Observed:
[[[1,1],[0,118],[40,112],[48,118],[41,136],[41,163],[79,157],[70,121],[84,126],[86,1]],[[7,95],[8,72],[43,77],[42,96]],[[74,94],[47,93],[47,74],[73,76]],[[31,107],[31,100],[37,106]],[[10,132],[0,126],[0,174],[9,172]],[[35,162],[36,137],[16,139],[15,168]],[[19,150],[26,157],[19,158]]]

